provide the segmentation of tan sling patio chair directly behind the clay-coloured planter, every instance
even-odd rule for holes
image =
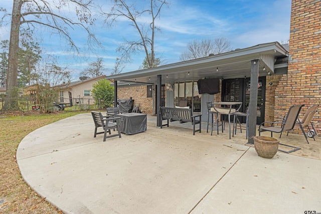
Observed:
[[[275,133],[280,133],[280,138],[282,135],[283,131],[292,131],[294,126],[295,126],[295,122],[297,120],[297,117],[300,113],[301,108],[304,105],[293,105],[289,108],[289,111],[287,112],[285,119],[282,122],[268,122],[265,121],[263,123],[260,124],[259,126],[259,136],[261,135],[262,131],[270,131],[271,132],[271,137],[273,137],[273,132]],[[272,124],[272,126],[270,127],[262,127],[262,125],[266,124],[266,123],[270,123]],[[280,125],[280,127],[276,127],[274,125]]]

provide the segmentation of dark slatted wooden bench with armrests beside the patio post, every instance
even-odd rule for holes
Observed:
[[[192,109],[159,107],[159,114],[161,114],[161,121],[167,120],[167,124],[162,124],[161,128],[166,125],[169,127],[169,121],[180,121],[180,123],[191,122],[193,124],[193,135],[195,135],[195,131],[200,131],[201,133],[202,115],[193,115]],[[199,117],[199,120],[196,120],[196,117]],[[195,130],[196,124],[200,124],[200,129]]]

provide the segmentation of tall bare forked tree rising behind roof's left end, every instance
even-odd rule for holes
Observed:
[[[126,0],[113,0],[114,6],[111,8],[111,11],[109,13],[102,13],[106,17],[105,23],[108,26],[111,26],[117,19],[125,18],[130,22],[129,26],[133,27],[139,35],[136,41],[128,41],[125,39],[125,43],[120,44],[117,48],[117,51],[122,54],[120,59],[130,61],[131,54],[136,51],[144,51],[148,61],[148,67],[152,68],[155,62],[154,35],[155,31],[160,31],[160,29],[156,27],[155,22],[156,19],[159,19],[161,16],[162,7],[168,5],[169,2],[168,0],[148,1],[148,8],[138,9],[135,4],[129,4]],[[150,16],[150,21],[140,24],[140,18],[146,13]]]

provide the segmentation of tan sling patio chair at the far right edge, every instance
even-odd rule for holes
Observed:
[[[313,106],[311,106],[310,108],[308,108],[308,109],[306,110],[305,114],[303,115],[303,118],[301,118],[301,119],[297,118],[296,124],[295,124],[295,126],[294,126],[294,127],[296,127],[296,128],[300,128],[300,129],[302,130],[303,135],[304,135],[307,143],[309,143],[309,141],[307,140],[307,135],[306,135],[306,133],[304,132],[304,128],[307,128],[308,131],[311,131],[311,129],[310,129],[310,127],[309,127],[309,125],[311,125],[312,130],[314,130],[313,123],[312,123],[312,119],[313,119],[314,114],[317,112],[316,109],[318,108],[318,106],[319,106],[319,105],[313,105]],[[289,132],[287,132],[287,134],[288,134],[288,133],[289,133]],[[314,139],[314,135],[312,135],[312,137],[313,137],[313,140],[315,140],[315,139]]]

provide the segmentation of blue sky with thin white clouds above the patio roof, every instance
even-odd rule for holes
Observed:
[[[107,10],[110,1],[96,0]],[[135,2],[135,1],[131,1]],[[136,2],[142,3],[142,0]],[[189,42],[198,39],[227,38],[231,48],[247,48],[254,45],[281,42],[289,38],[291,0],[170,0],[171,5],[163,8],[161,18],[156,26],[161,32],[155,35],[155,50],[162,58],[163,64],[180,61],[180,55],[186,50]],[[12,10],[12,0],[2,0],[0,7]],[[133,39],[135,32],[125,20],[118,21],[111,28],[97,20],[93,33],[102,42],[104,50],[97,48],[85,58],[75,60],[72,53],[66,52],[66,44],[50,29],[41,29],[42,40],[39,43],[46,53],[59,57],[62,67],[68,65],[73,76],[78,78],[80,72],[97,57],[102,57],[105,68],[113,68],[117,44]],[[10,26],[0,28],[0,40],[9,39]],[[75,42],[81,46],[86,43],[84,32],[75,30],[72,33]],[[88,53],[88,52],[85,52]],[[123,72],[135,71],[141,65],[144,54],[132,56],[131,64]],[[110,71],[105,74],[109,75]]]

